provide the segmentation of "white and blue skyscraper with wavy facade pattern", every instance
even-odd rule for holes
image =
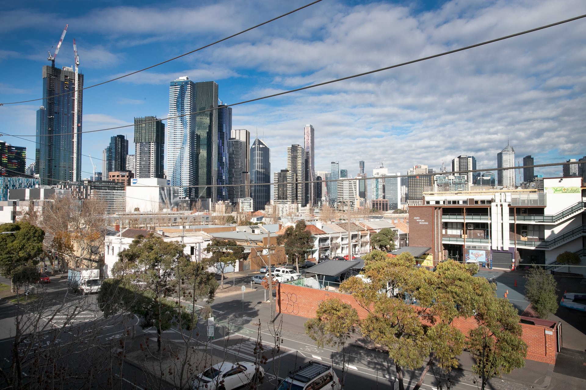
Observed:
[[[167,179],[171,185],[183,186],[179,193],[191,196],[195,174],[195,82],[189,77],[171,81],[169,119],[167,121]]]

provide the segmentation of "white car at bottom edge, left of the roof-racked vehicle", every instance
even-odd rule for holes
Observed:
[[[193,377],[192,388],[197,390],[232,390],[247,385],[264,376],[263,367],[243,361],[240,363],[217,363]]]

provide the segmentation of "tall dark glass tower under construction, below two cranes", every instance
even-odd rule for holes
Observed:
[[[35,173],[41,185],[81,180],[83,74],[77,77],[76,102],[76,94],[68,93],[74,91],[73,68],[43,66],[43,105],[37,111],[35,150]]]

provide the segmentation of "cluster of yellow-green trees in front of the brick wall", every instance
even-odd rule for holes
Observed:
[[[344,317],[356,318],[355,309],[333,300],[322,302],[318,315],[306,325],[314,340],[335,345],[349,332],[344,329],[356,327],[366,339],[387,348],[401,390],[404,370],[424,367],[414,385],[418,389],[432,365],[442,375],[457,367],[465,347],[475,357],[475,370],[482,378],[523,367],[527,347],[520,339],[516,309],[497,298],[494,287],[473,277],[465,265],[445,261],[431,272],[415,267],[409,253],[387,257],[383,251],[372,251],[364,256],[363,274],[346,279],[340,289],[352,294],[366,317],[346,324]],[[456,317],[474,318],[481,330],[465,334],[453,326]],[[490,364],[484,359],[489,355]]]

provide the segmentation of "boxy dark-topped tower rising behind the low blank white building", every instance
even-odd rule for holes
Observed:
[[[134,143],[135,155],[127,157],[126,169],[134,172],[135,178],[162,179],[165,124],[156,116],[134,118]]]

